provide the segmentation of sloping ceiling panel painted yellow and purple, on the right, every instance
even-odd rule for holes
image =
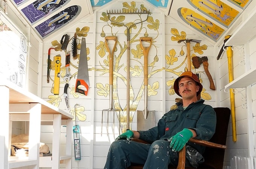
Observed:
[[[169,16],[217,42],[252,0],[172,0]]]

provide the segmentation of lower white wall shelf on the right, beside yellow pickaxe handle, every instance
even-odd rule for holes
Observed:
[[[225,86],[226,89],[246,88],[256,82],[256,69],[251,69]]]

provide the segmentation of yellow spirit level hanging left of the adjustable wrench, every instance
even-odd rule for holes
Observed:
[[[54,75],[54,87],[53,94],[59,94],[59,73],[61,71],[61,56],[58,54],[53,57],[55,60],[55,75]]]

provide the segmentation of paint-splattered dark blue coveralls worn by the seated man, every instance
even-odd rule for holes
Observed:
[[[195,139],[210,140],[215,133],[216,113],[212,106],[203,104],[204,100],[191,103],[185,110],[182,105],[170,110],[158,121],[156,127],[147,131],[139,131],[140,138],[152,144],[144,144],[129,140],[114,141],[108,151],[104,169],[126,169],[131,163],[144,164],[143,169],[167,169],[168,165],[178,164],[178,152],[173,152],[167,139],[183,128],[196,131]],[[200,154],[205,147],[187,142]],[[186,159],[186,166],[190,166]]]

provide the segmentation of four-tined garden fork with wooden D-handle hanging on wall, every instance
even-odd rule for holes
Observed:
[[[112,53],[110,52],[110,48],[108,47],[108,42],[109,40],[113,40],[114,42],[114,47],[112,49]],[[115,113],[119,112],[119,118],[120,118],[120,110],[118,109],[113,109],[113,55],[114,55],[114,50],[116,48],[116,43],[117,43],[117,36],[106,36],[105,37],[105,45],[107,47],[108,53],[109,53],[109,109],[103,109],[102,110],[102,115],[101,115],[101,135],[102,135],[102,128],[103,128],[103,113],[107,111],[107,134],[108,134],[108,115],[110,111],[113,111],[113,134],[114,134],[114,127],[115,127]],[[119,134],[120,134],[120,120],[119,120]]]

